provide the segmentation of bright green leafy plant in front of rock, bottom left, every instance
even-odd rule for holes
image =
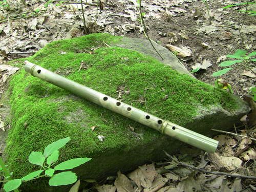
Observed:
[[[44,154],[42,154],[42,152],[31,152],[28,159],[29,162],[39,165],[40,169],[20,179],[11,178],[9,170],[0,157],[0,174],[2,173],[5,177],[5,180],[0,182],[6,182],[4,185],[4,190],[6,192],[12,190],[17,191],[17,188],[22,184],[22,182],[38,179],[40,177],[50,177],[50,186],[69,185],[75,183],[77,181],[77,176],[71,171],[54,174],[56,170],[72,169],[91,160],[91,158],[75,158],[55,165],[55,162],[59,157],[58,150],[65,146],[69,141],[70,137],[66,137],[49,144],[47,147],[45,147]]]

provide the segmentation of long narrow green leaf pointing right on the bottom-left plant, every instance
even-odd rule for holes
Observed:
[[[66,170],[71,169],[74,167],[77,167],[83,163],[86,163],[90,161],[92,158],[76,158],[76,159],[70,159],[68,161],[64,161],[54,167],[55,170]]]

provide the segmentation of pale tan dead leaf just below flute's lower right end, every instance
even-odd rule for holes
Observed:
[[[234,170],[242,168],[243,161],[237,157],[219,156],[217,153],[208,154],[209,160],[215,165],[216,169],[225,168],[227,170]]]

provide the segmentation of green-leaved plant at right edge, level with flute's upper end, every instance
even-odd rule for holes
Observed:
[[[250,65],[250,62],[254,62],[256,61],[256,58],[252,58],[256,55],[256,52],[253,51],[251,53],[249,53],[248,55],[246,55],[247,51],[245,50],[241,50],[241,49],[238,49],[236,51],[236,53],[232,54],[232,55],[227,55],[228,58],[235,58],[237,60],[227,60],[227,61],[223,61],[220,63],[220,67],[228,67],[228,66],[232,66],[236,63],[242,63],[247,69],[249,69],[249,65]],[[225,68],[225,69],[222,69],[220,71],[217,71],[217,72],[214,72],[212,74],[212,76],[214,77],[218,77],[218,76],[221,76],[221,75],[224,75],[226,74],[228,71],[230,71],[231,69],[233,68]]]

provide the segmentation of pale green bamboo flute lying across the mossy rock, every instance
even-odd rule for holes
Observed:
[[[62,77],[45,68],[34,65],[29,61],[25,61],[25,71],[31,73],[34,77],[38,77],[54,84],[57,87],[65,89],[72,94],[94,102],[103,108],[114,111],[120,115],[137,121],[143,125],[149,126],[164,135],[174,137],[187,144],[201,148],[202,150],[214,153],[218,146],[218,141],[188,130],[170,121],[158,118],[152,114],[146,113],[129,104],[123,103],[108,95],[95,91],[91,88],[83,86],[80,83]]]

